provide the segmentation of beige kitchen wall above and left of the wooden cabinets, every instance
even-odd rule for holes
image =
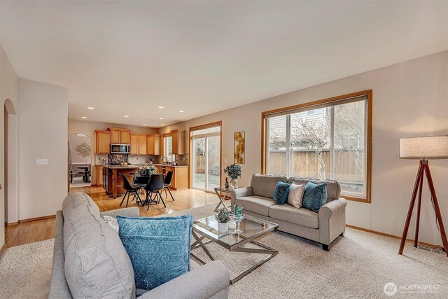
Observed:
[[[86,120],[69,120],[69,134],[85,134],[86,136],[90,137],[92,140],[92,183],[96,181],[97,173],[96,169],[94,167],[95,164],[95,151],[96,151],[96,144],[97,144],[97,137],[95,134],[95,130],[104,130],[106,131],[108,127],[123,127],[124,129],[131,130],[134,134],[155,134],[157,133],[156,129],[153,129],[151,127],[135,127],[130,125],[119,125],[116,123],[99,123],[99,122],[92,122],[92,121],[86,121]],[[107,155],[105,155],[107,156]],[[139,160],[141,160],[141,155],[134,155],[133,158],[139,157]],[[130,159],[130,162],[137,162],[135,160]],[[97,163],[96,164],[101,164]]]

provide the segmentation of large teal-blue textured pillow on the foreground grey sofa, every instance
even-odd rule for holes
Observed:
[[[137,288],[151,290],[190,271],[193,216],[117,216]]]

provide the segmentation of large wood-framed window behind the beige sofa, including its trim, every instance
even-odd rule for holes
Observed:
[[[335,179],[349,200],[370,202],[372,91],[267,111],[262,172]]]

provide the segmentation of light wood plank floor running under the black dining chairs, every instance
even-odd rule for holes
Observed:
[[[92,200],[98,204],[100,211],[109,211],[111,209],[120,209],[120,202],[123,197],[118,197],[115,200],[106,195],[103,188],[97,187],[82,187],[71,188],[70,192],[82,191],[87,193]],[[199,190],[178,190],[172,191],[174,196],[174,202],[169,197],[165,199],[167,207],[163,207],[162,202],[160,204],[151,204],[149,211],[148,206],[140,207],[140,216],[158,216],[162,214],[172,213],[174,211],[182,211],[184,209],[190,209],[193,207],[202,207],[207,204],[218,204],[218,197],[214,193],[207,193]],[[165,197],[165,193],[163,193]],[[144,195],[142,199],[144,198]],[[128,207],[135,207],[135,202],[131,201]],[[126,206],[126,202],[123,202],[121,208]],[[31,221],[27,223],[20,223],[18,225],[10,225],[5,228],[5,241],[6,247],[12,247],[32,242],[43,241],[45,239],[52,239],[55,237],[55,218]]]

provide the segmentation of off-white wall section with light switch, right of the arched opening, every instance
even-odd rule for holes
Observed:
[[[20,220],[54,215],[67,194],[67,89],[19,79],[18,111]]]

